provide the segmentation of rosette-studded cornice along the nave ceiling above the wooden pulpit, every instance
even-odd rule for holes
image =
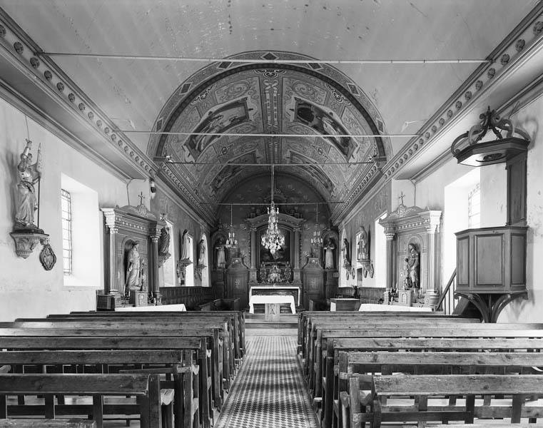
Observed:
[[[436,111],[420,131],[420,137],[410,141],[392,158],[383,173],[387,179],[397,173],[418,153],[435,143],[452,123],[460,120],[484,93],[509,71],[521,66],[522,58],[529,56],[543,37],[543,3],[539,3],[530,14],[512,31],[488,58],[492,63],[481,64],[462,83],[460,88]]]

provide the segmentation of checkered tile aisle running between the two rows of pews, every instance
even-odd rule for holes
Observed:
[[[247,355],[215,427],[317,428],[296,337],[247,337]]]

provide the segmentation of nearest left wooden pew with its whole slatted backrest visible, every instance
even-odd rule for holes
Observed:
[[[7,395],[44,394],[44,405],[7,405]],[[54,395],[88,395],[93,404],[55,404]],[[136,396],[137,404],[125,406],[126,414],[139,414],[141,428],[162,428],[161,389],[156,374],[0,374],[0,419],[19,415],[92,414],[103,427],[104,396]],[[70,407],[73,407],[70,409]]]

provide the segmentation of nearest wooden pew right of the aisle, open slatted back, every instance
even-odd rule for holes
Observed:
[[[543,406],[524,407],[526,397],[543,395],[543,375],[494,375],[494,374],[399,374],[373,376],[370,391],[365,392],[367,377],[351,377],[349,392],[341,397],[342,409],[350,409],[350,427],[360,427],[370,422],[379,428],[381,422],[417,422],[420,427],[427,421],[463,421],[472,424],[475,418],[510,418],[512,424],[521,418],[543,417]],[[464,405],[429,405],[429,399],[443,396],[465,397]],[[512,396],[510,406],[482,405],[476,395]],[[407,406],[385,405],[387,397],[415,397]],[[430,401],[432,403],[432,401]]]

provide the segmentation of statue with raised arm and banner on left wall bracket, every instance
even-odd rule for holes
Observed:
[[[30,153],[31,147],[32,142],[26,140],[26,147],[21,153],[21,161],[17,165],[21,181],[17,185],[16,229],[38,229],[34,224],[34,212],[38,209],[34,183],[41,177],[41,147],[38,148],[38,156],[34,165],[32,165],[32,153]]]

